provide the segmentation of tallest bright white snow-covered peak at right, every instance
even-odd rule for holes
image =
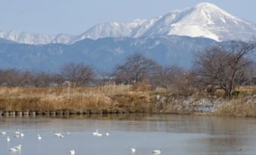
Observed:
[[[163,19],[171,19],[169,23],[154,26],[150,35],[187,35],[190,37],[205,37],[216,41],[250,40],[256,32],[256,26],[228,14],[216,5],[200,3],[193,8],[174,12]],[[161,22],[159,20],[159,22]],[[157,24],[157,23],[156,23]]]

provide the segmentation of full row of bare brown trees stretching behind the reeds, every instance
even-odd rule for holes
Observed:
[[[254,78],[254,62],[249,58],[254,44],[231,41],[195,53],[190,70],[178,66],[162,66],[153,59],[135,53],[116,65],[113,71],[96,74],[83,63],[66,63],[58,73],[0,70],[2,87],[84,87],[102,84],[147,84],[174,93],[191,95],[196,90],[224,90],[230,99],[239,84],[250,84]]]

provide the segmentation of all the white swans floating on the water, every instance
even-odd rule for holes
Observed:
[[[0,132],[0,135],[7,135],[7,133],[5,131],[2,131]],[[58,137],[58,138],[64,138],[64,135],[71,135],[70,132],[54,132],[54,136]],[[102,133],[98,132],[98,130],[96,130],[96,132],[92,132],[92,135],[96,136],[96,137],[101,137],[103,136]],[[106,132],[105,133],[106,136],[109,136],[109,133]],[[21,132],[20,130],[19,131],[16,131],[14,132],[14,138],[22,138],[24,136],[23,132]],[[42,136],[41,135],[37,135],[37,139],[40,141],[42,140]],[[6,136],[6,141],[7,142],[10,142],[11,141],[11,138],[7,135]],[[21,147],[22,145],[19,144],[17,146],[14,146],[14,147],[11,147],[9,149],[9,151],[11,152],[17,152],[17,151],[20,151],[21,150]],[[131,153],[135,154],[136,153],[136,149],[134,147],[131,147]],[[152,153],[154,155],[160,155],[161,154],[161,150],[160,149],[157,149],[157,150],[153,150]],[[69,150],[69,155],[75,155],[76,154],[76,151],[74,149],[72,150]]]

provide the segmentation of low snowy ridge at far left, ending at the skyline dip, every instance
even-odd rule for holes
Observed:
[[[14,41],[20,44],[50,44],[50,43],[62,43],[67,44],[75,38],[72,35],[59,34],[48,35],[45,33],[32,33],[32,32],[0,32],[0,38],[4,38],[9,41]]]

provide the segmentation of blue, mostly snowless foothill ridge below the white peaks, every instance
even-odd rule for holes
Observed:
[[[190,68],[193,51],[215,44],[208,38],[162,35],[140,38],[86,38],[74,44],[17,44],[0,40],[0,68],[59,71],[66,62],[84,62],[109,70],[133,53],[143,53],[161,65]]]

